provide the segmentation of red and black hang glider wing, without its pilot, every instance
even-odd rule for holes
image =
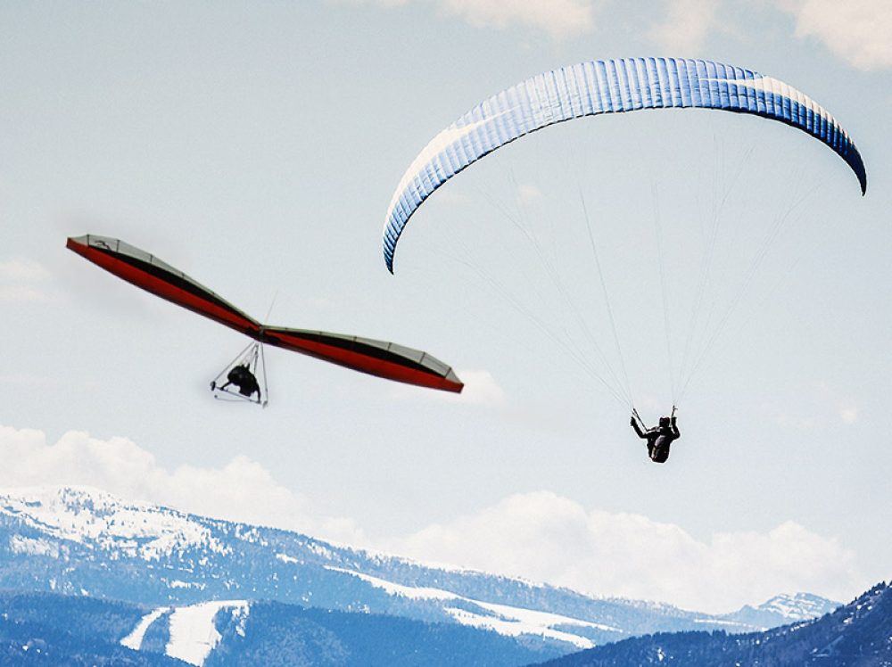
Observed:
[[[359,336],[262,325],[178,268],[118,239],[84,235],[70,237],[66,245],[128,283],[244,333],[256,342],[396,382],[456,393],[464,387],[450,366],[420,350]]]

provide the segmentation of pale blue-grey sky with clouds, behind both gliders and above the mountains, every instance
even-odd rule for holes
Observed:
[[[0,6],[0,486],[711,612],[888,579],[892,9],[545,7]],[[542,71],[638,55],[796,86],[854,138],[867,195],[779,123],[582,119],[445,185],[387,272],[387,205],[442,128]],[[466,389],[267,350],[268,408],[215,401],[247,341],[65,250],[87,233],[272,324],[426,350]],[[646,421],[678,402],[667,464],[597,350]]]

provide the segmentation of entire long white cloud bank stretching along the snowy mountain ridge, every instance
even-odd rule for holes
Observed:
[[[354,547],[547,581],[595,595],[725,612],[779,592],[847,599],[862,583],[854,555],[797,523],[694,539],[641,515],[588,510],[548,491],[517,494],[408,537],[372,539],[351,519],[320,515],[262,465],[168,470],[127,438],[67,432],[54,444],[0,426],[0,487],[88,486],[198,515],[301,531]]]

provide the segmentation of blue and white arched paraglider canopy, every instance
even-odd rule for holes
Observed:
[[[621,58],[582,62],[528,78],[493,95],[445,128],[418,153],[393,193],[384,219],[384,262],[409,218],[467,166],[535,130],[566,120],[640,109],[698,108],[777,120],[830,146],[855,172],[867,173],[855,143],[830,112],[796,88],[750,70],[704,60]]]

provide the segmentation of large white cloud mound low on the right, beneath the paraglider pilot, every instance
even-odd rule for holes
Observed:
[[[845,599],[856,589],[852,552],[797,523],[700,541],[670,523],[589,511],[546,491],[505,498],[475,515],[391,540],[387,548],[699,611],[727,612],[781,591]]]

